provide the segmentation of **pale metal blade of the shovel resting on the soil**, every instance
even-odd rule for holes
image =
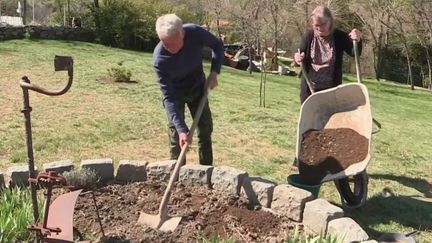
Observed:
[[[163,218],[161,214],[146,214],[141,212],[137,224],[145,225],[160,231],[174,231],[181,221],[181,217]]]

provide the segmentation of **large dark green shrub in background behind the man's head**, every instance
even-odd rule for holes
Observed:
[[[156,19],[163,14],[176,13],[185,23],[200,24],[202,20],[202,16],[186,4],[167,0],[100,2],[98,9],[90,5],[94,22],[100,23],[98,38],[105,45],[121,48],[152,50],[158,42]],[[97,28],[97,24],[95,26]]]

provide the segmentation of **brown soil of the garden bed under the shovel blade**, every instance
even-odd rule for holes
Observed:
[[[176,185],[169,202],[169,215],[182,217],[174,232],[137,225],[141,211],[157,214],[165,188],[164,184],[137,182],[82,193],[74,226],[95,242],[283,242],[293,229],[288,219],[251,207],[243,197],[182,184]]]

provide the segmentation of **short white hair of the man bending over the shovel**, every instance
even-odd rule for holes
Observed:
[[[175,14],[165,14],[156,20],[156,33],[159,38],[177,35],[183,30],[183,21]]]

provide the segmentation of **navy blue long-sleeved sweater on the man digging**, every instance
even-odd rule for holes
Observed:
[[[204,87],[202,48],[212,49],[211,72],[220,73],[223,61],[223,43],[213,34],[194,24],[184,24],[184,46],[171,54],[161,42],[153,51],[153,66],[163,95],[163,102],[169,118],[178,133],[188,132],[184,115],[176,103],[197,87]],[[200,89],[198,89],[200,90]],[[200,90],[203,92],[203,89]]]

